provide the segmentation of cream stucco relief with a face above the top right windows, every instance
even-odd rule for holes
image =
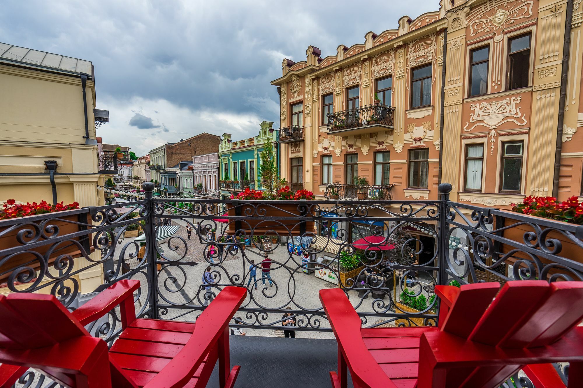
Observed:
[[[480,19],[470,23],[470,36],[477,33],[488,33],[494,31],[494,41],[499,42],[504,38],[503,29],[515,23],[518,19],[524,19],[532,16],[532,0],[521,1],[517,3],[504,3],[493,12],[483,13]]]

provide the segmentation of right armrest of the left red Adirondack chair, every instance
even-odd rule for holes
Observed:
[[[225,333],[229,321],[243,303],[245,295],[247,295],[247,289],[243,287],[223,288],[196,319],[192,337],[184,348],[144,388],[183,387],[192,378],[192,374],[201,365],[219,337]]]

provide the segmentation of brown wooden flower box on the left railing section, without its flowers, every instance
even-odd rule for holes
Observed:
[[[35,238],[38,238],[38,241],[45,241],[50,240],[53,236],[59,237],[86,230],[86,225],[83,224],[91,224],[89,213],[79,214],[79,211],[75,210],[51,213],[50,218],[48,218],[49,215],[47,214],[47,216],[41,221],[28,221],[33,217],[38,218],[38,216],[12,218],[12,220],[17,220],[18,224],[0,227],[0,250],[22,246],[22,251],[34,251],[45,256],[43,261],[45,262],[46,267],[48,267],[48,264],[52,264],[61,255],[71,255],[73,258],[79,258],[83,256],[82,252],[89,255],[95,250],[93,247],[92,234],[82,235],[59,243],[38,246],[37,248],[27,248],[26,245],[22,245],[22,243],[19,242],[17,237],[19,232],[30,231],[30,237],[27,237],[26,232],[23,232],[22,239],[24,241],[32,241]],[[44,233],[40,230],[37,232],[37,229],[33,226],[33,224],[40,225],[41,223],[44,227]],[[56,232],[57,228],[58,234]],[[46,255],[49,250],[52,251],[47,260]],[[24,267],[29,267],[34,271],[38,271],[41,268],[40,259],[33,253],[17,253],[7,262],[0,264],[0,283],[5,283],[10,274],[12,274],[12,271],[19,268],[24,269]],[[26,272],[21,270],[20,273],[25,274]],[[17,279],[15,278],[13,281],[17,281]]]

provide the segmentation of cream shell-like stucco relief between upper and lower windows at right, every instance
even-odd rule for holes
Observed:
[[[472,104],[470,105],[470,110],[473,113],[470,114],[470,122],[467,122],[463,127],[463,130],[469,132],[470,130],[476,128],[476,126],[487,126],[490,128],[490,155],[494,154],[494,143],[496,143],[496,129],[498,125],[502,125],[506,122],[514,122],[517,125],[526,125],[526,115],[520,112],[520,107],[517,104],[522,100],[522,97],[511,97],[504,98],[502,101],[491,101],[490,103]],[[521,119],[522,122],[518,122]],[[482,122],[480,122],[482,121]],[[468,128],[470,123],[475,122],[471,128]]]

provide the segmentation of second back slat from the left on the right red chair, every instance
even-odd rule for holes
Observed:
[[[532,312],[550,295],[544,280],[508,281],[486,310],[468,339],[496,346],[531,319]],[[539,333],[540,334],[540,333]]]

